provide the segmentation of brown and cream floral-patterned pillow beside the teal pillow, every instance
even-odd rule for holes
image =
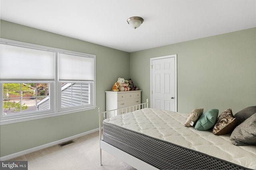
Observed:
[[[230,133],[236,127],[236,118],[231,109],[226,109],[218,117],[216,124],[213,127],[214,135],[224,135]]]

